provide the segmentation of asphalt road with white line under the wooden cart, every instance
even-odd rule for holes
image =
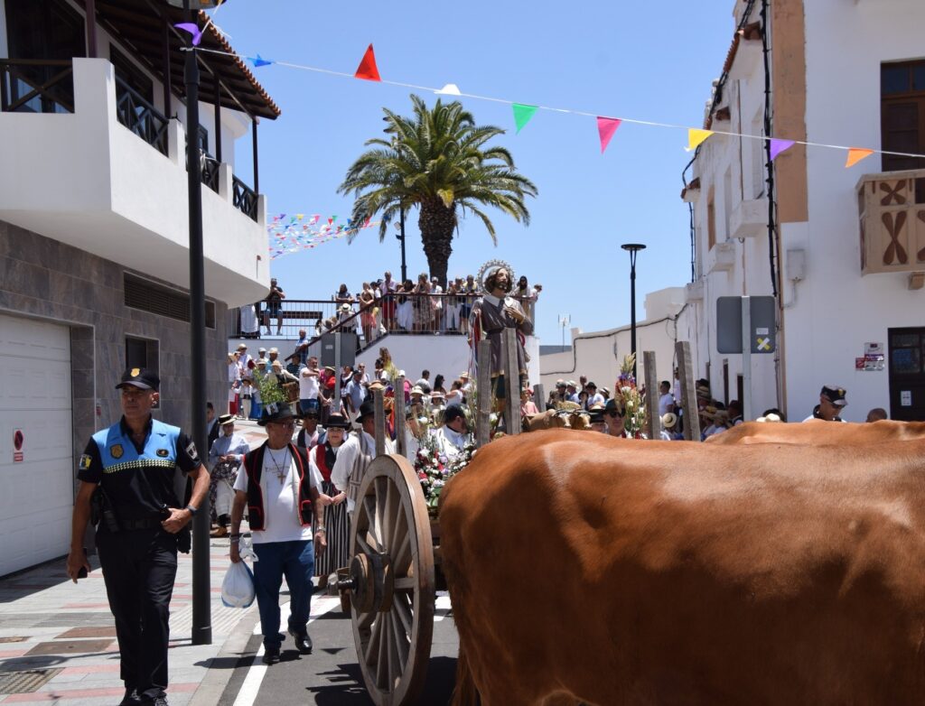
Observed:
[[[283,597],[283,601],[288,597]],[[333,607],[332,607],[333,606]],[[287,615],[283,606],[283,625]],[[441,706],[449,703],[456,673],[459,638],[449,610],[449,599],[438,598],[434,639],[427,666],[424,694],[420,703]],[[314,617],[315,613],[321,613]],[[350,618],[343,615],[337,599],[313,599],[313,620],[309,634],[314,652],[302,656],[287,635],[281,660],[265,666],[259,659],[245,657],[228,682],[219,706],[278,706],[309,703],[318,706],[367,706],[363,676],[353,647]],[[256,628],[259,631],[259,624]],[[256,653],[261,636],[253,635],[247,654]]]

